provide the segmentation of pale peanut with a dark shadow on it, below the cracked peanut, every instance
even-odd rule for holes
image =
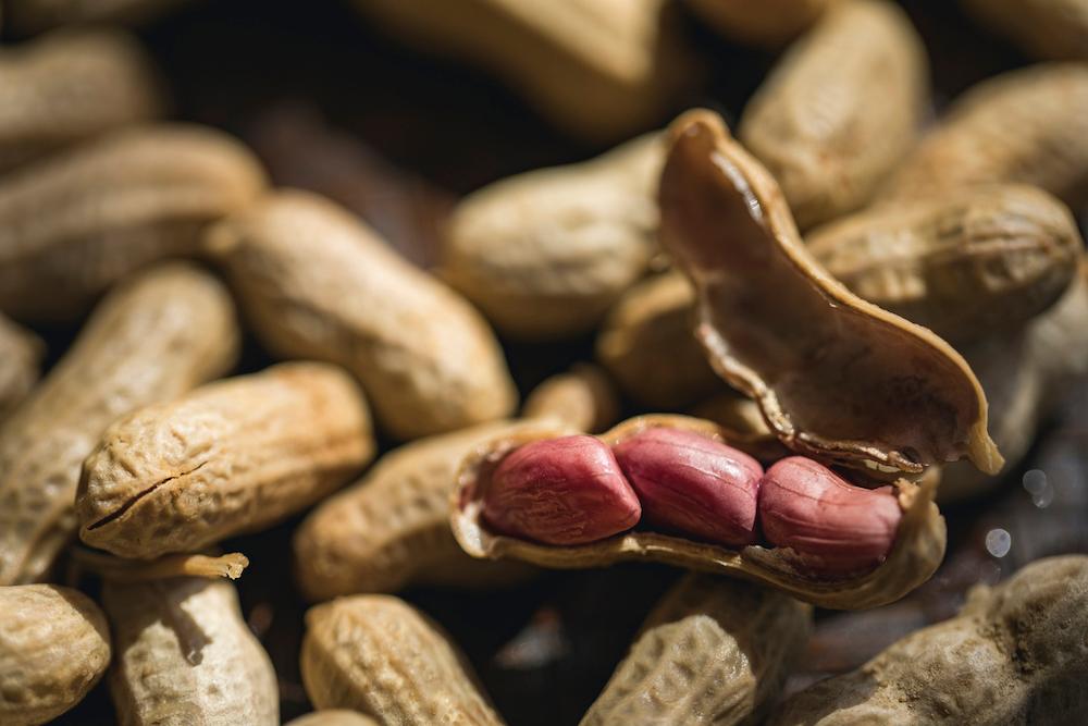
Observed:
[[[275,672],[225,580],[107,582],[110,692],[121,726],[275,726]]]

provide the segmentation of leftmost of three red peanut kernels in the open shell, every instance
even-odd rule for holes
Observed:
[[[611,450],[586,435],[518,447],[495,467],[483,503],[491,528],[544,544],[588,544],[641,517]]]

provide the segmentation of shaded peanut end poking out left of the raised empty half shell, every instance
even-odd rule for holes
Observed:
[[[628,291],[602,325],[597,360],[640,404],[676,410],[721,390],[691,333],[694,304],[691,283],[670,271]]]

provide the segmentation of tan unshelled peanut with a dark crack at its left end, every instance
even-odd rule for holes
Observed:
[[[106,430],[76,493],[79,537],[124,557],[194,552],[313,504],[373,455],[367,403],[334,366],[209,383]]]

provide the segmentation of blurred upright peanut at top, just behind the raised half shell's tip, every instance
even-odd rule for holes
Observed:
[[[895,3],[839,2],[749,101],[738,138],[805,230],[865,205],[894,170],[914,145],[928,76],[922,39]]]

